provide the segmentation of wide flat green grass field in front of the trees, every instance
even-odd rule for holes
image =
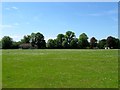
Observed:
[[[117,88],[117,50],[3,50],[3,88]]]

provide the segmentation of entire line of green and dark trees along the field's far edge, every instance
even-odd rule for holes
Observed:
[[[10,36],[4,36],[0,41],[2,49],[119,49],[120,40],[118,38],[108,36],[106,39],[97,40],[95,37],[90,38],[85,33],[76,35],[72,31],[65,34],[58,34],[56,39],[49,39],[47,42],[44,35],[40,32],[25,35],[23,39],[16,42]]]

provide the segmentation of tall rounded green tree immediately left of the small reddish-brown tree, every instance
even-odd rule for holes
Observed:
[[[82,49],[89,47],[88,36],[85,33],[82,33],[79,36],[78,46]]]

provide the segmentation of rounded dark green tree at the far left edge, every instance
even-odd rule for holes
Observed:
[[[3,49],[11,49],[12,44],[13,44],[13,40],[9,36],[4,36],[2,38],[2,48]]]

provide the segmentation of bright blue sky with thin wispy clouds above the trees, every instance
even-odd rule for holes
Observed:
[[[18,41],[24,35],[40,32],[45,39],[73,31],[98,40],[118,36],[117,2],[4,2],[2,36]],[[0,37],[0,38],[1,38]]]

